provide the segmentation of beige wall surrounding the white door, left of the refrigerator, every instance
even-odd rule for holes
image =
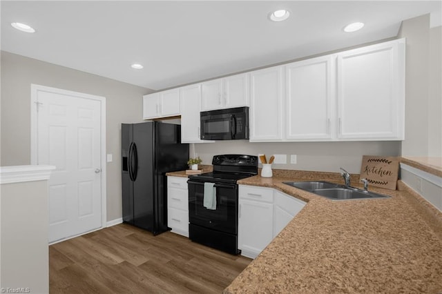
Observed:
[[[122,217],[120,131],[142,121],[142,95],[152,90],[9,52],[1,52],[1,164],[30,164],[30,84],[106,97],[107,219]]]

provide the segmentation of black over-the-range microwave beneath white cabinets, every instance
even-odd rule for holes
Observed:
[[[203,140],[249,139],[247,106],[200,112],[200,138]]]

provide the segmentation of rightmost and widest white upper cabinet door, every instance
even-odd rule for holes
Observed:
[[[403,139],[405,39],[338,54],[340,139]]]

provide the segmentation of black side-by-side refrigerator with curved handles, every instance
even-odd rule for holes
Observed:
[[[188,159],[180,125],[122,124],[123,222],[153,235],[168,231],[166,173],[186,170]]]

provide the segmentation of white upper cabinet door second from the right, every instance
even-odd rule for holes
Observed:
[[[332,138],[332,56],[285,66],[287,139]]]

